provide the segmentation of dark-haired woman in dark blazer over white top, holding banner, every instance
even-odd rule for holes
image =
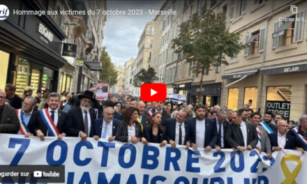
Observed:
[[[123,116],[123,121],[119,123],[117,127],[117,134],[115,140],[123,142],[132,142],[136,144],[140,141],[142,137],[141,124],[137,121],[139,117],[139,110],[135,107],[129,107],[125,115]]]

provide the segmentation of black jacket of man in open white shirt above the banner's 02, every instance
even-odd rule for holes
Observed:
[[[242,122],[246,123],[246,122]],[[246,132],[247,132],[247,145],[252,146],[255,148],[258,143],[258,135],[257,135],[257,130],[255,125],[252,123],[246,123]],[[238,146],[243,146],[240,145],[241,141],[241,133],[240,133],[240,127],[239,125],[235,125],[234,123],[231,123],[228,125],[227,128],[227,134],[225,137],[225,140],[227,141],[227,144],[229,144],[232,148],[237,148]]]

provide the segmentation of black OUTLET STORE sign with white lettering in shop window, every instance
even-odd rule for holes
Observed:
[[[279,113],[283,114],[285,118],[289,120],[290,117],[290,107],[291,107],[291,102],[286,102],[286,101],[267,101],[266,105],[266,111],[271,112],[273,114]]]

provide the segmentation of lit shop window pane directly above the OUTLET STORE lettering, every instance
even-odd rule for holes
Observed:
[[[287,101],[292,98],[292,86],[274,86],[267,88],[267,100]]]

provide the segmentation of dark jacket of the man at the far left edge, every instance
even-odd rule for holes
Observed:
[[[20,121],[16,114],[16,109],[4,105],[2,118],[0,120],[0,133],[17,134],[20,129]]]

